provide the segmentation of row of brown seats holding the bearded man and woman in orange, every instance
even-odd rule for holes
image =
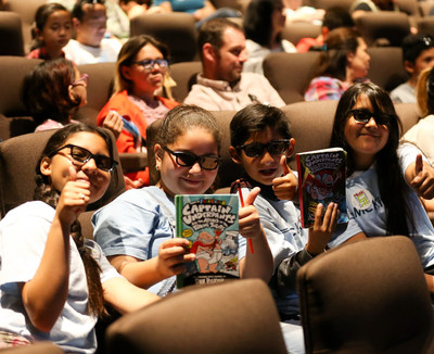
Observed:
[[[401,64],[400,48],[370,48],[369,78],[386,90],[407,79]],[[265,75],[285,103],[303,101],[303,94],[315,76],[318,52],[272,53],[264,62]],[[35,124],[29,119],[21,99],[24,76],[39,60],[22,56],[0,55],[0,139],[30,132]],[[170,75],[177,83],[173,88],[174,98],[182,102],[195,75],[201,72],[199,61],[173,64]],[[81,73],[89,74],[88,104],[78,111],[77,119],[95,124],[99,111],[110,98],[114,63],[79,65]]]

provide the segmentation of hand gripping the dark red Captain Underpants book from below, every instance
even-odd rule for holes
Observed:
[[[312,255],[322,253],[336,228],[339,210],[336,203],[330,203],[322,217],[323,205],[318,204],[315,211],[315,224],[309,229],[306,251]]]

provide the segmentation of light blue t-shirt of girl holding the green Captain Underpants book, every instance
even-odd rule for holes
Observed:
[[[163,241],[175,237],[175,202],[155,186],[130,189],[93,214],[92,224],[93,237],[106,256],[151,260],[158,255]],[[245,255],[245,238],[239,236],[240,260]],[[163,295],[173,278],[148,290]]]

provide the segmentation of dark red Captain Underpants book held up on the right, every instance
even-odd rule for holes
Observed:
[[[331,148],[296,154],[302,226],[310,227],[319,203],[337,203],[337,224],[348,222],[345,198],[346,151]]]

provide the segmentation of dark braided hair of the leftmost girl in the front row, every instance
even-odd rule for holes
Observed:
[[[84,123],[69,124],[59,129],[51,136],[51,138],[47,142],[47,146],[43,149],[40,160],[36,166],[36,188],[34,192],[34,200],[39,200],[46,202],[54,208],[56,207],[60,191],[55,190],[52,187],[51,180],[48,176],[42,175],[40,170],[40,162],[43,157],[51,156],[54,151],[61,148],[72,135],[81,131],[94,132],[103,138],[105,143],[107,144],[110,155],[113,159],[112,139],[104,129],[92,127]],[[100,278],[101,267],[92,257],[90,249],[85,245],[85,239],[81,235],[81,226],[78,220],[75,220],[74,224],[71,226],[71,235],[77,245],[86,269],[86,278],[89,288],[89,313],[95,316],[101,316],[105,312],[103,290]]]

